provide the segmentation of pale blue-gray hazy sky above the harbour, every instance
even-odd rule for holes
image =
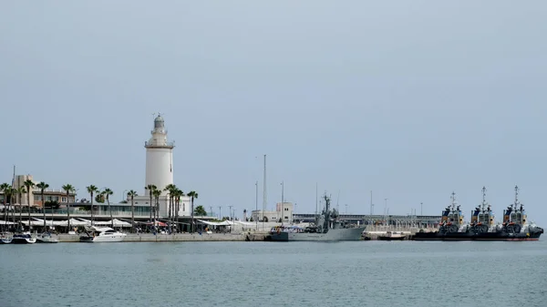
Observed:
[[[514,186],[547,226],[547,3],[0,2],[0,181],[144,193],[153,114],[196,205],[501,220]],[[387,201],[385,200],[387,199]],[[420,203],[423,206],[420,208]],[[347,206],[346,206],[347,205]]]

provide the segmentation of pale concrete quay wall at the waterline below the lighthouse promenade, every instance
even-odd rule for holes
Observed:
[[[177,234],[151,234],[141,233],[128,235],[123,240],[124,242],[182,242],[182,241],[252,241],[264,240],[263,233],[177,233]],[[74,234],[59,234],[59,242],[79,242],[79,235]]]

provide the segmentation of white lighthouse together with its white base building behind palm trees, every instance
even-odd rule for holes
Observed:
[[[163,189],[174,182],[173,148],[175,148],[175,144],[168,141],[165,121],[161,115],[154,119],[154,128],[150,134],[150,139],[144,142],[144,148],[146,148],[145,187],[155,185],[157,189],[161,190],[160,217],[166,218],[169,214],[169,195]],[[135,197],[134,201],[138,204],[150,205],[150,191],[145,189],[142,196]],[[191,199],[187,196],[181,197],[179,216],[191,216]]]

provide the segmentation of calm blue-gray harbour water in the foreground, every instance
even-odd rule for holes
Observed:
[[[547,306],[547,241],[0,246],[0,306]]]

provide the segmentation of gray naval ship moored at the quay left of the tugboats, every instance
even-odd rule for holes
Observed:
[[[338,220],[338,211],[330,209],[330,198],[324,196],[325,209],[320,215],[315,216],[315,222],[304,230],[291,227],[276,227],[272,229],[266,240],[292,241],[292,240],[361,240],[364,226],[352,227],[344,220]]]

